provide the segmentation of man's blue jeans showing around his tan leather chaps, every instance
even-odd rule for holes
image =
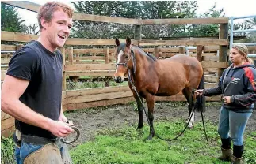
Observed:
[[[34,151],[37,151],[44,145],[36,145],[32,143],[21,142],[21,147],[15,147],[14,155],[17,164],[23,164],[25,158]],[[60,148],[60,152],[63,154],[63,147]]]

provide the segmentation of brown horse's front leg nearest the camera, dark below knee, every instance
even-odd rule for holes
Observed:
[[[149,124],[150,124],[150,134],[147,137],[147,140],[152,140],[152,138],[155,136],[155,130],[154,130],[154,125],[153,125],[155,96],[148,94],[145,99],[147,101],[147,108],[148,108],[147,117],[148,117]]]

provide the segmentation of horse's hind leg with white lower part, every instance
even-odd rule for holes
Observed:
[[[191,97],[191,90],[190,88],[188,87],[185,87],[183,90],[182,90],[182,93],[183,95],[185,96],[185,99],[187,99],[188,103],[189,103],[189,117],[191,117],[191,120],[189,122],[189,118],[187,121],[185,121],[186,123],[189,122],[189,125],[188,127],[189,128],[193,128],[193,123],[195,121],[195,114],[193,113],[192,114],[192,110],[193,110],[193,99]],[[192,115],[192,116],[191,116]]]

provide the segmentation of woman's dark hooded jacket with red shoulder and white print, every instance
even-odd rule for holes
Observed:
[[[223,106],[235,112],[252,112],[256,102],[256,69],[246,62],[239,67],[231,65],[224,70],[216,88],[204,89],[203,95],[231,96],[231,103]]]

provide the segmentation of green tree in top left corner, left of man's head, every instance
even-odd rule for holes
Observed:
[[[1,3],[1,29],[8,32],[25,32],[21,17],[13,6]]]

